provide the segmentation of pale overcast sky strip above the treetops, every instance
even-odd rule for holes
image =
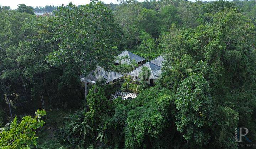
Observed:
[[[89,4],[90,0],[0,0],[0,5],[1,6],[10,6],[11,9],[17,9],[18,4],[26,4],[27,6],[32,6],[32,7],[40,7],[40,6],[46,6],[46,5],[67,5],[69,2],[72,2],[75,5],[84,5],[84,4]],[[116,0],[101,0],[105,2],[106,4],[109,3],[118,3]],[[139,0],[140,2],[144,0]],[[195,0],[190,0],[190,1],[195,1]],[[214,0],[202,0],[202,1],[214,1]]]

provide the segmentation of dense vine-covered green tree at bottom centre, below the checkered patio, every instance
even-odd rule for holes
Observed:
[[[118,130],[124,125],[126,148],[175,148],[180,145],[182,139],[175,128],[172,97],[170,90],[155,86],[139,94],[127,106],[119,104],[116,107],[112,125]],[[126,114],[126,121],[122,122]]]

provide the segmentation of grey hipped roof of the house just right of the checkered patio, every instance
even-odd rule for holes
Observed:
[[[148,67],[150,69],[150,77],[149,79],[157,79],[160,74],[161,74],[161,68],[158,65],[155,65],[151,62],[146,62],[145,64],[139,66],[138,68],[136,68],[135,70],[133,70],[132,72],[129,73],[129,75],[131,76],[139,76],[139,73],[142,71],[142,67]]]

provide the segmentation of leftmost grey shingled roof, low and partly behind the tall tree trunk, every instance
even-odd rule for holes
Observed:
[[[103,70],[103,69],[102,69]],[[101,73],[101,74],[100,74]],[[104,75],[104,76],[103,76]],[[116,73],[116,72],[105,72],[105,71],[97,71],[97,76],[103,76],[106,79],[106,83],[113,81],[114,79],[118,79],[123,75]],[[81,81],[84,81],[84,75],[79,76]],[[94,71],[90,72],[87,76],[87,82],[96,83],[97,77],[94,74]]]

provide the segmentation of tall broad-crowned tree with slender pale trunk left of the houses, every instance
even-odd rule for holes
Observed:
[[[49,62],[74,62],[84,74],[86,98],[88,73],[97,66],[107,68],[114,60],[113,46],[118,44],[120,31],[113,13],[101,2],[81,7],[70,3],[59,8],[53,23],[59,50],[49,56]]]

